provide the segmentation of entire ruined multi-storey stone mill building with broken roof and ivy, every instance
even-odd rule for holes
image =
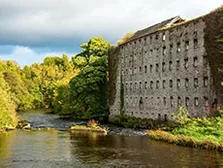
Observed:
[[[179,16],[137,31],[109,51],[110,119],[124,113],[169,119],[215,114],[222,103],[223,8],[185,21]]]

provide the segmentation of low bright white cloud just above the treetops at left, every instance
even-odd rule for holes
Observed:
[[[47,56],[61,56],[64,52],[35,52],[29,47],[15,46],[9,54],[0,54],[2,60],[16,60],[20,66],[31,65],[34,62],[41,63]],[[67,53],[66,53],[67,54]],[[67,54],[72,56],[74,54]]]

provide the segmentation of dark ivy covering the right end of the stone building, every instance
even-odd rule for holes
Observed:
[[[223,99],[223,6],[204,16],[205,48],[217,96]],[[221,100],[222,101],[222,100]]]

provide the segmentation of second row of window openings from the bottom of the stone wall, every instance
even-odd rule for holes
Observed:
[[[128,99],[128,98],[127,98]],[[131,101],[132,97],[130,97],[130,101]],[[148,97],[145,98],[146,101],[148,99]],[[153,99],[153,97],[152,97]],[[160,97],[157,97],[157,100],[160,101]],[[204,97],[204,100],[205,100],[205,106],[208,106],[208,98],[207,97]],[[127,103],[128,104],[128,103]],[[139,104],[143,104],[143,99],[142,97],[140,97],[139,99]],[[166,97],[163,97],[163,105],[166,106],[167,105],[167,98]],[[182,100],[181,100],[181,97],[177,97],[177,105],[182,105]],[[190,98],[189,97],[185,97],[185,106],[188,107],[190,105]],[[198,97],[194,97],[194,106],[198,106],[199,105],[199,99]],[[174,98],[171,96],[170,97],[170,106],[174,106]]]

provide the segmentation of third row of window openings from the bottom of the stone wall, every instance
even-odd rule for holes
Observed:
[[[154,82],[150,81],[149,88],[153,89],[153,87],[154,87],[153,85],[154,85]],[[177,86],[177,88],[180,88],[180,86],[181,86],[180,79],[177,79],[176,86]],[[198,86],[199,86],[198,78],[194,78],[194,88],[198,88]],[[208,77],[203,77],[203,86],[204,87],[208,86]],[[145,87],[145,89],[148,88],[147,81],[145,81],[144,87]],[[159,89],[159,87],[160,87],[160,82],[157,80],[156,81],[156,89]],[[162,87],[163,87],[163,89],[166,88],[166,80],[163,80]],[[173,80],[169,80],[169,87],[173,88]],[[185,87],[186,88],[189,87],[189,79],[188,78],[185,78]],[[137,86],[137,82],[136,82],[134,89],[137,89],[137,88],[138,88],[138,86]],[[139,82],[139,89],[142,89],[142,82]],[[128,90],[128,83],[126,83],[126,91],[127,90]],[[130,90],[132,90],[132,83],[130,83]]]

